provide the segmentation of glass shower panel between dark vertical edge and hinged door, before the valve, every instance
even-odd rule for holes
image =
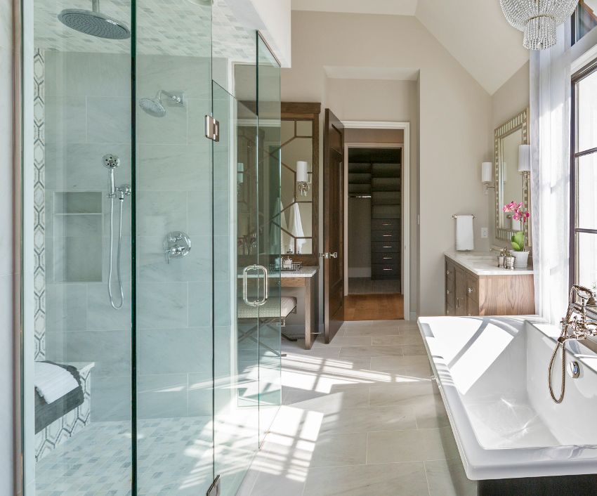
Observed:
[[[204,136],[211,4],[138,0],[136,15],[138,493],[205,494],[214,480],[212,270],[220,269]]]

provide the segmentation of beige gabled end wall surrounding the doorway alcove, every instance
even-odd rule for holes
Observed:
[[[357,37],[358,32],[367,32],[368,36]],[[418,84],[415,82],[414,91],[409,92],[419,94],[409,107],[413,111],[418,107],[419,119],[413,128],[420,130],[413,133],[413,141],[419,142],[420,147],[418,158],[412,157],[411,162],[415,184],[414,188],[411,184],[412,196],[417,189],[416,177],[421,178],[416,200],[420,242],[412,258],[414,262],[416,258],[420,260],[418,313],[443,313],[442,253],[454,247],[454,223],[450,216],[477,215],[476,247],[489,248],[488,240],[480,239],[478,227],[487,226],[487,199],[480,188],[479,164],[491,158],[491,97],[412,17],[295,11],[292,64],[291,69],[282,70],[282,100],[318,101],[322,109],[330,104],[339,117],[350,120],[400,120],[401,107],[395,105],[395,100],[376,98],[372,91],[372,85],[385,86],[388,81],[379,85],[367,81],[362,84],[361,89],[366,90],[360,92],[362,100],[349,101],[344,93],[343,102],[339,103],[335,89],[344,91],[345,84],[354,89],[360,83],[329,80],[324,66],[420,70]],[[415,152],[416,147],[412,148]],[[413,226],[416,228],[416,222]],[[412,279],[416,280],[415,273]]]

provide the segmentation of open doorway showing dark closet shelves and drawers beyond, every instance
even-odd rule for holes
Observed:
[[[347,145],[345,320],[404,318],[402,148]]]

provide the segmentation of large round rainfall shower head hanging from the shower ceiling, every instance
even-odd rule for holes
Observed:
[[[129,28],[119,20],[100,12],[100,0],[91,0],[91,11],[80,8],[65,8],[58,14],[58,20],[72,30],[91,34],[99,38],[127,39],[131,37]]]

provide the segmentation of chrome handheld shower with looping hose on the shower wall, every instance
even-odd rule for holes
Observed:
[[[110,305],[114,310],[120,310],[124,305],[124,291],[122,289],[122,275],[120,273],[120,252],[122,249],[122,207],[124,198],[131,194],[131,186],[124,184],[122,186],[116,185],[114,178],[114,169],[119,167],[120,159],[116,155],[108,154],[103,157],[104,166],[108,169],[107,176],[107,197],[110,198],[110,269],[107,278],[107,293],[110,297]],[[117,250],[117,278],[118,287],[120,289],[120,303],[117,304],[112,296],[112,266],[114,266],[114,199],[118,197],[120,202],[120,214],[118,224],[118,250]]]

